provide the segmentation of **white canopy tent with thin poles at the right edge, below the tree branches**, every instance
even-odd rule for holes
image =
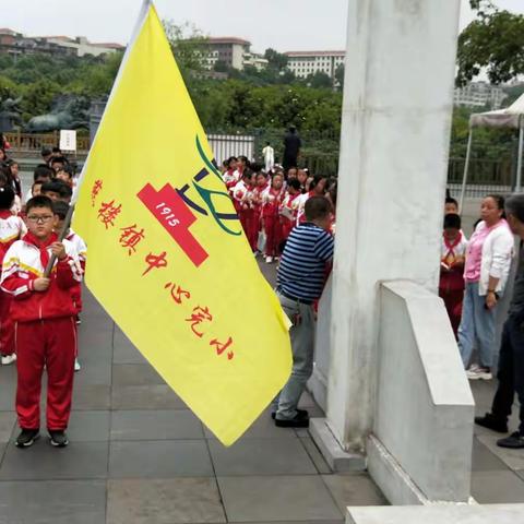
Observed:
[[[464,194],[466,192],[467,171],[469,169],[469,159],[472,156],[473,129],[479,127],[487,128],[513,128],[519,129],[519,160],[516,166],[516,187],[515,191],[521,191],[522,187],[522,155],[524,153],[524,95],[505,109],[498,111],[478,112],[469,117],[469,138],[467,140],[466,165],[464,166],[464,178],[462,179],[461,204],[464,204]]]

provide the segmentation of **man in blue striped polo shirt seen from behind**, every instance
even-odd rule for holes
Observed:
[[[322,295],[334,249],[333,237],[327,233],[332,217],[330,201],[311,196],[305,213],[306,222],[289,235],[277,274],[277,296],[293,322],[289,330],[293,371],[273,403],[275,425],[285,428],[309,427],[308,412],[297,406],[313,371],[313,302]]]

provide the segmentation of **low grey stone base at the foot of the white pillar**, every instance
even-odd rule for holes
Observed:
[[[327,427],[325,418],[312,418],[309,432],[325,462],[334,472],[364,472],[366,469],[366,457],[359,453],[344,451]]]

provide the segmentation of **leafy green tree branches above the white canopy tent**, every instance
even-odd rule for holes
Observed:
[[[489,0],[471,0],[477,17],[458,37],[457,85],[486,69],[491,83],[524,73],[524,15],[499,10]]]

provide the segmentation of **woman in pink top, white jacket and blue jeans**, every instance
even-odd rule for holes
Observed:
[[[475,228],[466,251],[464,279],[466,289],[458,348],[467,369],[477,342],[479,364],[467,370],[468,379],[492,378],[495,349],[495,311],[510,273],[514,239],[503,218],[504,199],[491,194],[483,200],[481,222]]]

